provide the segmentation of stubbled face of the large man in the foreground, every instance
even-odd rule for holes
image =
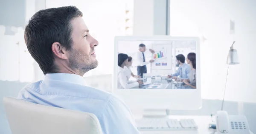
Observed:
[[[73,70],[78,71],[80,75],[84,75],[89,70],[98,66],[94,47],[99,42],[89,34],[89,30],[85,25],[82,17],[77,17],[71,21],[73,27],[72,39],[73,45],[69,50],[69,64]]]

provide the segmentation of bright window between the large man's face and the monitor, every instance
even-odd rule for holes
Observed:
[[[95,48],[99,65],[84,76],[112,74],[114,36],[132,34],[133,0],[46,1],[47,8],[69,5],[78,7],[83,12],[90,33],[99,41],[99,46]]]

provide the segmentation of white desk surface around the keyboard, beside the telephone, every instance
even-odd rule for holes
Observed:
[[[212,134],[212,130],[208,128],[212,122],[210,116],[169,116],[171,119],[194,119],[198,126],[197,131],[140,131],[141,134]],[[213,133],[214,134],[214,133]]]

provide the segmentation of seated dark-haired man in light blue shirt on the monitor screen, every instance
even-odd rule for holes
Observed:
[[[183,56],[183,54],[178,54],[176,56],[176,62],[177,65],[179,65],[180,67],[178,68],[176,73],[168,75],[168,78],[177,78],[177,76],[180,76],[181,79],[189,79],[189,73],[191,68],[189,64],[185,63],[185,56]]]

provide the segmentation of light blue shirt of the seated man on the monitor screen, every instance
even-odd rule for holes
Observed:
[[[189,79],[190,70],[191,68],[189,64],[184,63],[182,66],[178,68],[176,73],[172,74],[172,77],[180,75],[181,79]]]

